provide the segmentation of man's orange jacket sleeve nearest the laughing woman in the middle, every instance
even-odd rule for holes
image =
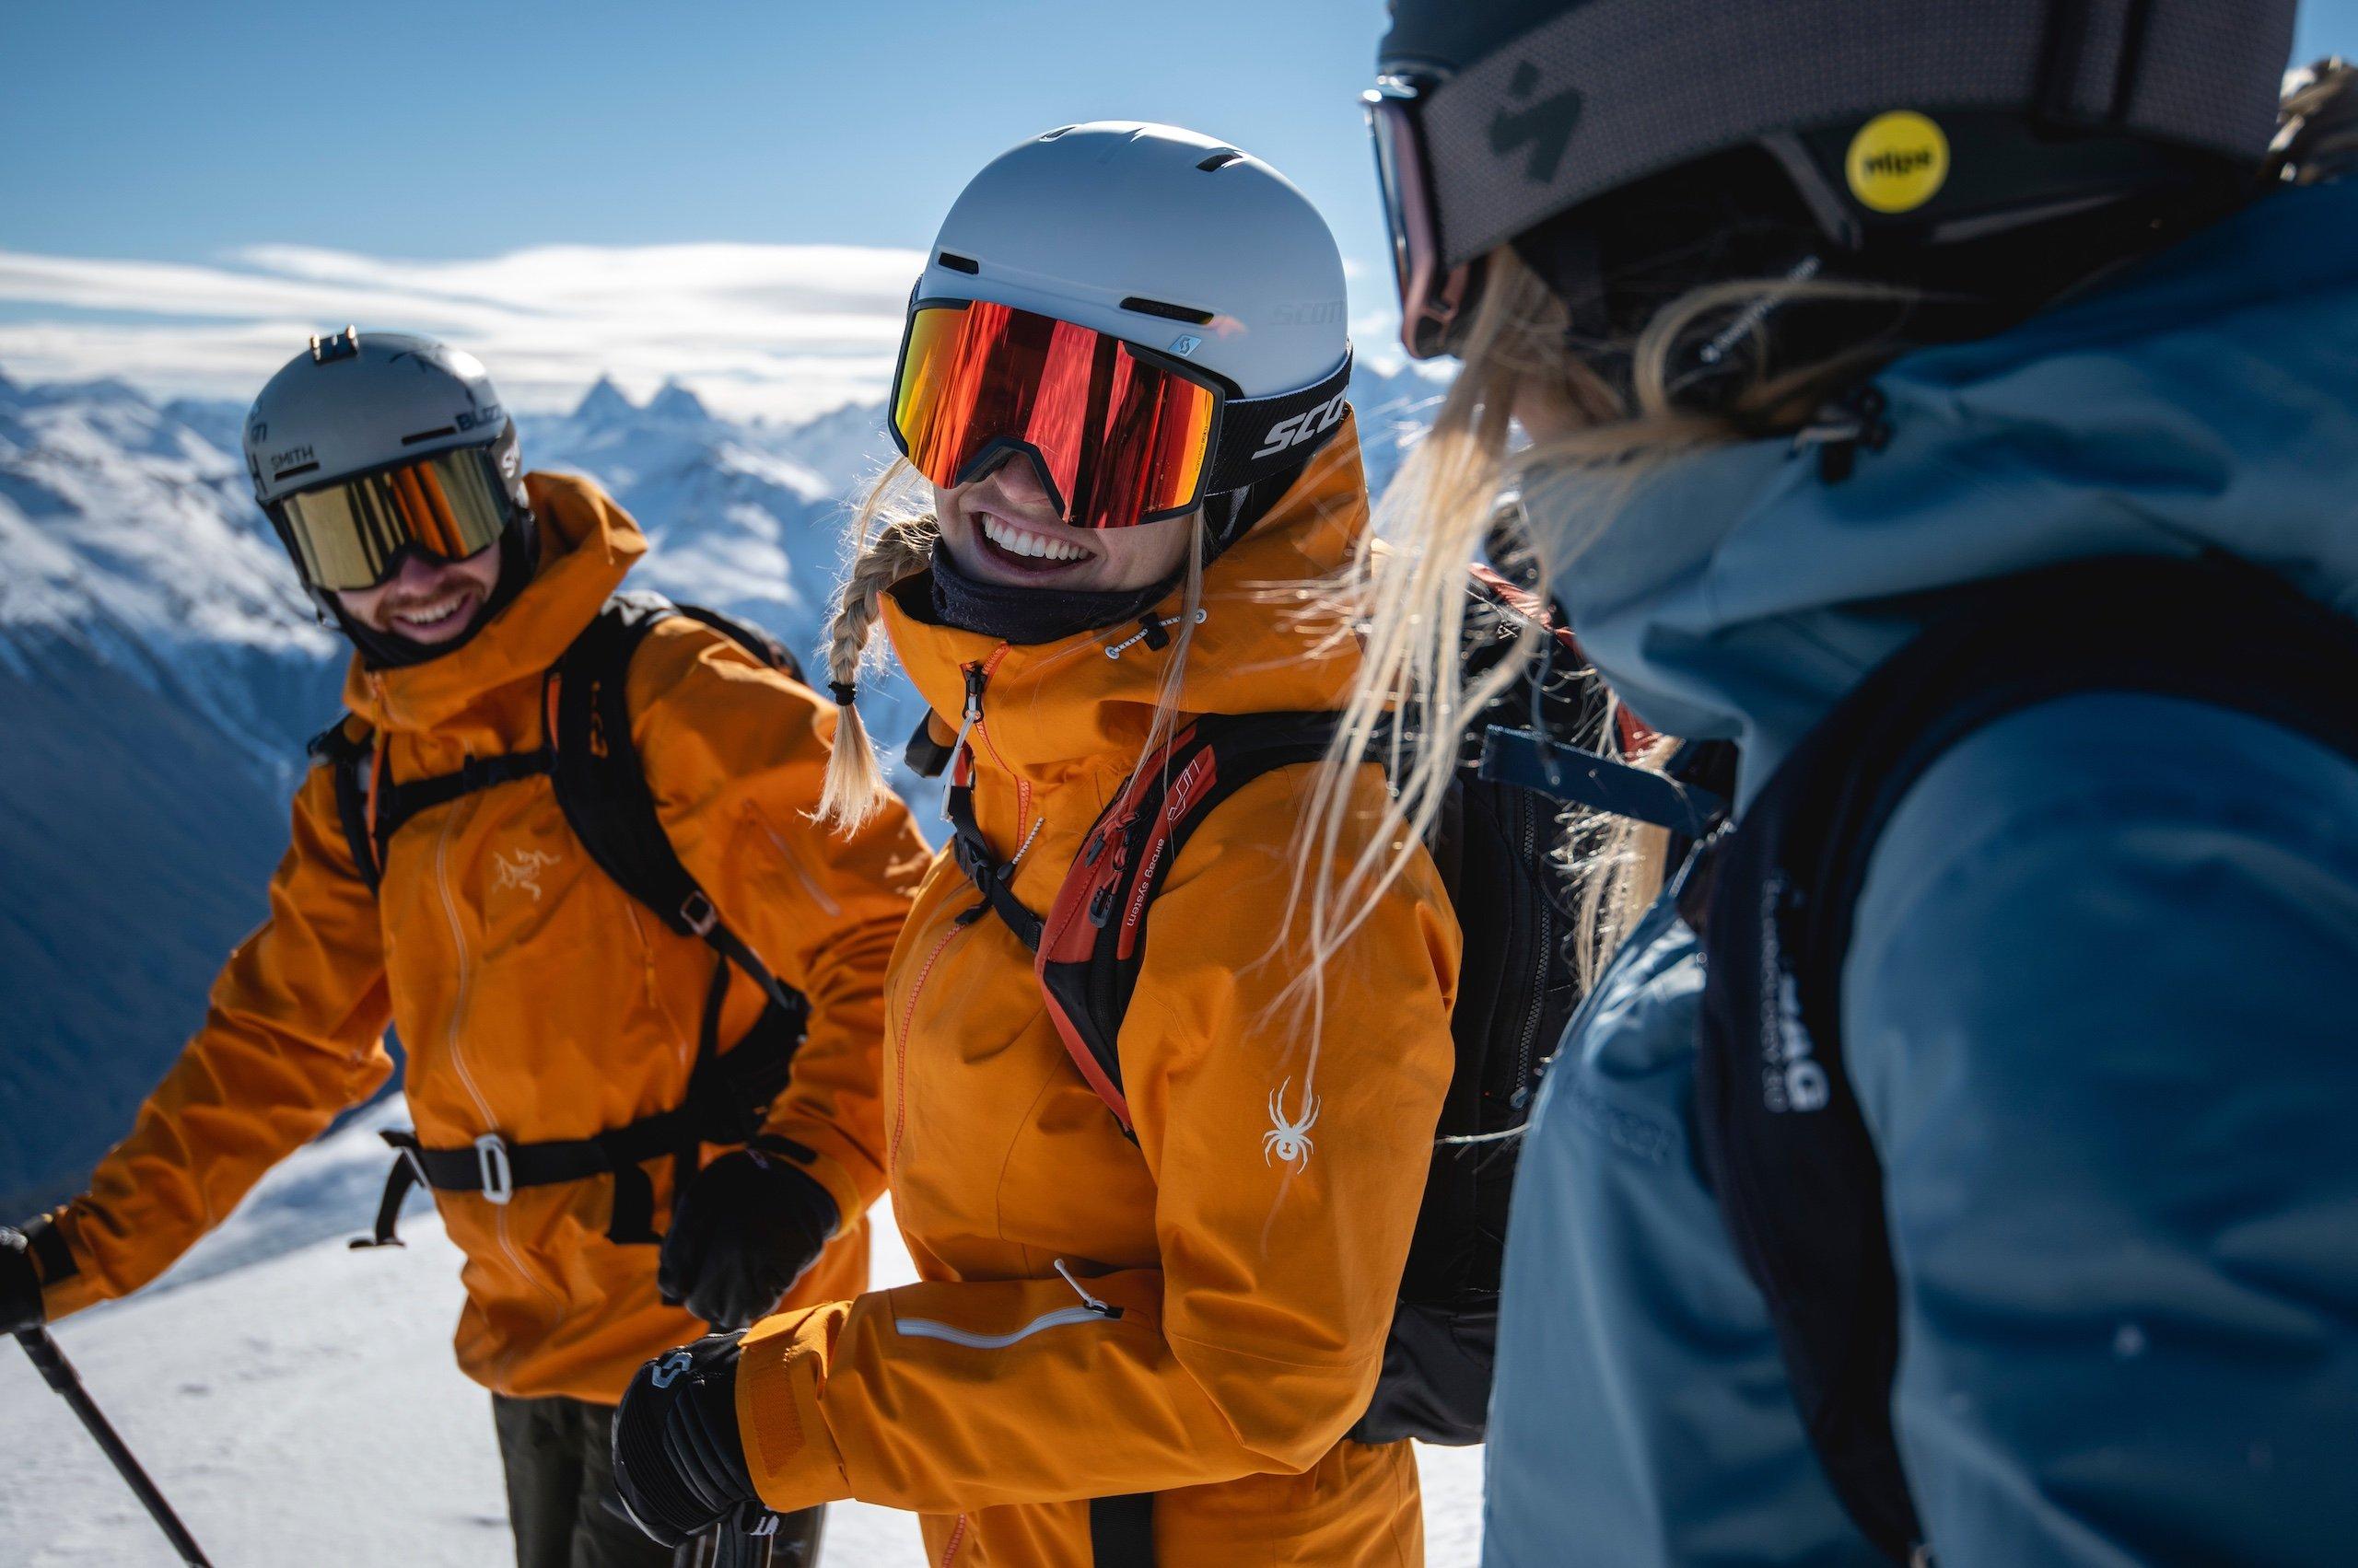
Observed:
[[[811,1002],[769,1132],[849,1224],[884,1191],[884,967],[929,851],[891,802],[844,837],[811,821],[835,707],[724,637],[667,622],[632,665],[639,757],[681,865],[729,929]]]

